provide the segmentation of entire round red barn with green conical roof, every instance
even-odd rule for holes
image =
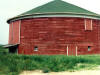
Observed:
[[[100,16],[54,0],[9,23],[9,51],[18,54],[100,54]]]

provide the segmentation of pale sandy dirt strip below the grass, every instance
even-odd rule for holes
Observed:
[[[36,71],[24,71],[20,75],[99,75],[100,70],[83,70],[76,72],[50,72],[50,73],[42,73],[40,70]]]

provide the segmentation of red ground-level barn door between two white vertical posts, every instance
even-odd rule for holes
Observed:
[[[74,44],[67,45],[67,55],[77,56],[77,46]]]

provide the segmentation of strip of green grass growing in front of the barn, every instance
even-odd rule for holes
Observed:
[[[100,65],[99,55],[17,55],[0,54],[0,75],[18,75],[24,70],[42,70],[44,73],[91,69]]]

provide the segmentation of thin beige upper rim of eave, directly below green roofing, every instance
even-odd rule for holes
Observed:
[[[44,12],[44,13],[33,13],[33,14],[25,14],[25,15],[20,15],[20,16],[16,16],[13,18],[10,18],[7,20],[7,22],[9,23],[10,20],[16,19],[16,18],[20,18],[20,17],[26,17],[26,16],[41,16],[44,15],[44,17],[46,17],[45,15],[71,15],[71,16],[83,16],[83,17],[93,17],[93,18],[98,18],[100,19],[98,14],[87,14],[87,13],[75,13],[75,12]]]

